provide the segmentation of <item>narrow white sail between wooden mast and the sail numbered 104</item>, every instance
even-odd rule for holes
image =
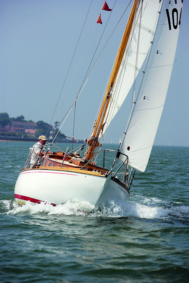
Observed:
[[[122,103],[124,102],[128,92],[131,89],[131,86],[133,85],[135,77],[138,75],[140,68],[143,65],[143,62],[149,51],[150,41],[154,35],[160,5],[161,4],[159,3],[159,0],[140,1],[125,54],[114,83],[111,101],[104,119],[105,126],[103,129],[103,134],[105,133],[113,117],[118,112],[119,108],[122,106]],[[141,27],[139,29],[140,25]],[[143,40],[140,41],[138,46],[139,30],[140,38]]]

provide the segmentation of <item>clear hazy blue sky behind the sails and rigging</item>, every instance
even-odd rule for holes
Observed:
[[[1,0],[0,112],[7,112],[9,117],[23,115],[26,120],[34,122],[42,120],[53,124],[60,121],[81,86],[103,31],[103,39],[95,58],[128,2],[129,0],[117,0],[114,6],[115,0],[107,0],[110,8],[114,6],[110,16],[110,12],[101,11],[104,0],[93,0],[92,4],[91,0]],[[100,11],[103,24],[95,25]],[[128,13],[125,13],[76,102],[74,139],[88,138],[91,133],[125,30]],[[189,146],[188,15],[189,1],[184,0],[175,62],[154,142],[156,145]],[[86,46],[82,62],[74,76]],[[111,140],[114,143],[119,142],[119,137],[122,137],[125,130],[130,108],[131,98],[125,101],[113,119],[105,139],[106,143],[110,143]],[[73,121],[74,109],[61,128],[61,132],[66,136],[73,136]]]

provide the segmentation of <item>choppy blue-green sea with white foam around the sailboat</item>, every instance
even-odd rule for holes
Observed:
[[[86,213],[77,200],[16,204],[32,145],[0,141],[0,282],[189,282],[189,147],[154,146],[128,201]]]

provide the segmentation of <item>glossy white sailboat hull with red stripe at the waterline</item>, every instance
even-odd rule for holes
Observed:
[[[111,176],[97,176],[94,172],[33,169],[20,172],[14,195],[19,204],[26,201],[52,205],[76,199],[98,206],[108,199],[126,200],[129,191]]]

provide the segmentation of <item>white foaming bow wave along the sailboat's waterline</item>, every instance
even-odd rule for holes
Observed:
[[[151,198],[149,198],[150,200]],[[146,198],[147,201],[147,198]],[[156,202],[156,201],[155,201]],[[161,204],[161,200],[156,204],[141,204],[135,201],[107,201],[101,210],[95,209],[91,204],[79,202],[77,200],[69,200],[65,204],[58,204],[53,207],[50,204],[32,204],[26,201],[23,206],[18,206],[16,201],[12,204],[10,201],[3,201],[7,214],[44,214],[44,215],[83,215],[88,217],[128,217],[134,216],[146,219],[167,219],[167,217],[183,218],[189,216],[188,206],[172,206],[169,204]],[[158,205],[159,204],[159,205]],[[161,206],[160,206],[161,205]],[[12,209],[10,209],[10,207]],[[93,213],[88,213],[93,210]]]

